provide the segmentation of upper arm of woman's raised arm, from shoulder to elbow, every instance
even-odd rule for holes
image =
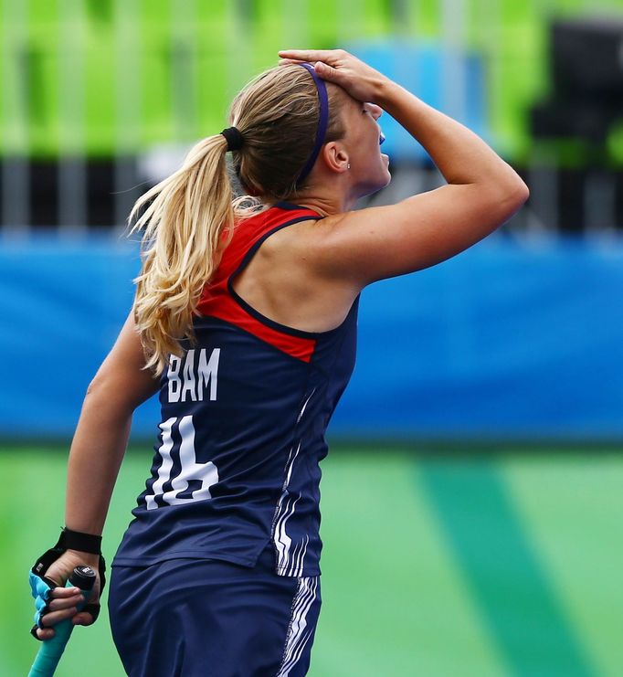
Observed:
[[[522,186],[496,195],[476,184],[444,185],[396,205],[326,218],[314,266],[322,277],[360,288],[434,266],[511,217],[527,197]]]

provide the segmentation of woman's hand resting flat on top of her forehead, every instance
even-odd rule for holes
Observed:
[[[334,82],[354,99],[376,103],[388,79],[343,49],[282,49],[282,63],[308,62],[316,73]]]

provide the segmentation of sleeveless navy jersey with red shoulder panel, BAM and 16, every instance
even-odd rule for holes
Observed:
[[[161,379],[151,477],[114,564],[178,557],[254,566],[271,543],[277,573],[320,573],[325,430],[353,372],[357,304],[329,332],[275,323],[233,281],[266,238],[319,219],[280,203],[238,224],[202,294],[196,343]]]

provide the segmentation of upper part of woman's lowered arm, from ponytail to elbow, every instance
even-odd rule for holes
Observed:
[[[131,414],[152,397],[159,386],[159,379],[150,370],[143,369],[144,365],[143,345],[131,312],[111,352],[93,377],[85,401],[98,399],[120,414]]]

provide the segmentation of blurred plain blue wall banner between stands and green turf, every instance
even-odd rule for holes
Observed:
[[[71,434],[132,303],[136,248],[90,239],[0,247],[0,432]],[[333,436],[623,439],[623,245],[502,237],[364,291]],[[155,402],[135,416],[152,436]]]

